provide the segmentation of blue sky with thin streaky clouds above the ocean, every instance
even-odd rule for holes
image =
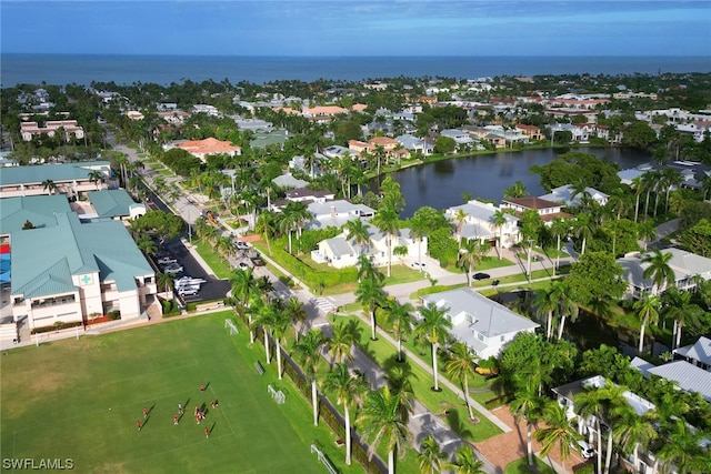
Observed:
[[[1,0],[0,27],[2,53],[711,57],[711,0]]]

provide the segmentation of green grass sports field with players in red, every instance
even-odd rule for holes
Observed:
[[[276,371],[257,374],[244,331],[224,329],[229,315],[3,352],[2,458],[70,458],[81,473],[326,472],[309,446],[328,446],[327,428],[309,427],[310,405],[286,383],[287,403],[272,401]],[[186,413],[176,426],[178,403]],[[340,451],[327,454],[340,461]]]

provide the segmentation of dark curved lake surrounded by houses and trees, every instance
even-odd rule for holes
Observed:
[[[530,173],[529,169],[534,164],[547,164],[557,154],[568,151],[570,150],[525,150],[452,158],[397,171],[391,175],[400,183],[405,200],[405,208],[400,216],[410,218],[423,205],[447,209],[462,204],[464,192],[471,193],[472,199],[483,198],[500,202],[503,191],[519,180],[525,184],[530,194],[545,194],[545,190],[539,183],[539,175]],[[651,154],[640,150],[578,148],[574,151],[604,157],[617,163],[621,170],[651,161]],[[375,183],[371,182],[372,184]]]

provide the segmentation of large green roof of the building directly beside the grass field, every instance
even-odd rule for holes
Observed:
[[[136,276],[152,275],[136,242],[120,221],[81,223],[73,212],[57,214],[57,226],[12,232],[12,294],[26,297],[66,292],[72,275],[99,273],[117,289],[136,289]],[[59,271],[58,262],[66,261]],[[43,282],[42,284],[38,282]],[[73,285],[72,285],[73,288]]]

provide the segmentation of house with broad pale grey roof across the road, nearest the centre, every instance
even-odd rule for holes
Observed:
[[[452,322],[450,333],[479,357],[497,356],[521,332],[534,332],[538,323],[523,317],[502,304],[470,288],[421,296],[424,305],[434,303],[447,309]]]

